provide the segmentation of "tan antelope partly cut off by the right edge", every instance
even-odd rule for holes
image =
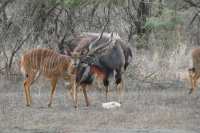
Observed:
[[[200,77],[200,48],[195,48],[192,51],[192,62],[193,62],[193,67],[188,69],[192,87],[189,91],[189,94],[194,92],[195,88],[197,87],[197,80]]]

